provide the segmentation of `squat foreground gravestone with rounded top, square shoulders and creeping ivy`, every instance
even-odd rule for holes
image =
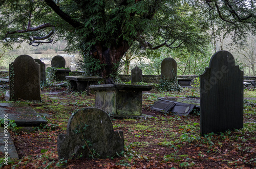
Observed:
[[[123,132],[113,130],[105,111],[83,108],[69,118],[67,134],[58,136],[57,149],[59,159],[110,158],[124,151]]]

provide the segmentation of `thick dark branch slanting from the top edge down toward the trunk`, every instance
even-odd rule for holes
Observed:
[[[59,15],[63,20],[67,21],[72,27],[79,28],[82,24],[71,18],[70,15],[66,14],[52,1],[52,0],[44,0],[46,4],[53,9],[53,11]]]

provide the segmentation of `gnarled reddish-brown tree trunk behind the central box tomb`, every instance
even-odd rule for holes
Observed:
[[[101,68],[97,70],[105,84],[114,83],[114,77],[117,75],[119,62],[124,53],[129,50],[130,45],[127,41],[119,40],[118,43],[112,44],[110,47],[105,47],[105,42],[97,42],[90,51],[90,55],[100,60]]]

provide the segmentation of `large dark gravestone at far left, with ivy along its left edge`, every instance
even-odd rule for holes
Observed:
[[[18,56],[9,65],[10,100],[40,101],[40,65],[28,55]]]

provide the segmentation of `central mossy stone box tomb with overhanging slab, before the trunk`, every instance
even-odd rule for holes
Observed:
[[[142,115],[142,91],[152,86],[104,84],[91,85],[96,91],[95,107],[113,117],[134,117]]]

